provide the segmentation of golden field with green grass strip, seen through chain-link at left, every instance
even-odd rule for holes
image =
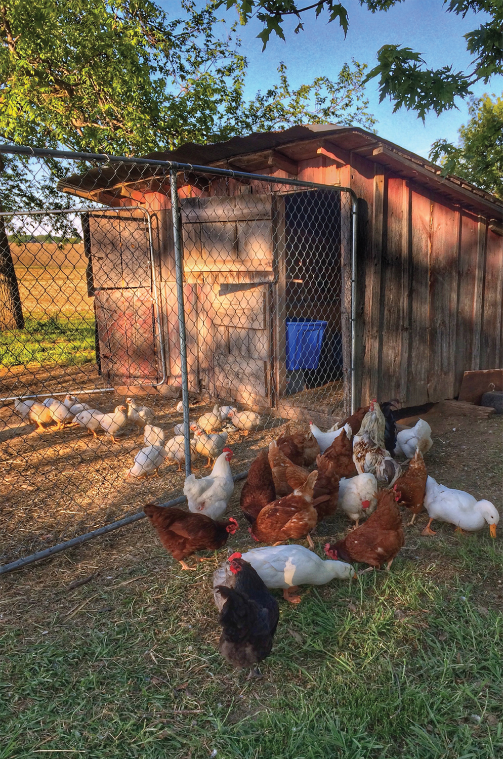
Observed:
[[[24,329],[0,335],[3,367],[95,361],[93,298],[82,244],[11,243]]]

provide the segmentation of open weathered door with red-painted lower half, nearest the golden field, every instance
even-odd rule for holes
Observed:
[[[93,212],[83,223],[100,371],[111,384],[158,379],[149,235],[143,214]]]

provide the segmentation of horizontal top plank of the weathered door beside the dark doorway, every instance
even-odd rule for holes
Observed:
[[[234,195],[222,197],[189,197],[181,200],[182,223],[221,223],[248,221],[250,219],[271,219],[269,195]]]

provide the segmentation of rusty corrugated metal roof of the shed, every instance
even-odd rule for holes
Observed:
[[[429,181],[435,184],[435,191],[441,194],[451,196],[455,191],[462,191],[467,200],[473,199],[473,204],[476,206],[486,206],[492,211],[493,216],[495,208],[501,208],[501,201],[495,196],[480,190],[479,187],[475,187],[459,177],[442,175],[442,169],[439,166],[360,127],[347,127],[338,124],[306,124],[291,127],[284,131],[256,132],[245,137],[232,137],[231,140],[220,143],[207,143],[206,145],[185,143],[176,150],[149,153],[142,157],[153,161],[174,161],[192,165],[211,166],[217,163],[222,165],[222,162],[232,162],[232,159],[236,159],[237,156],[250,156],[253,153],[261,153],[266,150],[286,149],[287,146],[298,145],[309,140],[316,140],[316,138],[330,140],[343,150],[349,151],[358,150],[361,152],[368,146],[370,153],[365,157],[369,160],[386,165],[386,156],[389,156],[391,165],[393,162],[407,163],[407,165],[412,163],[420,169],[426,170]],[[376,146],[385,150],[384,156],[382,154],[373,155],[372,148]],[[374,152],[379,152],[379,150]],[[148,179],[154,175],[159,175],[159,171],[146,165],[112,164],[106,167],[93,168],[83,175],[71,175],[58,183],[58,189],[89,197],[93,191],[117,187],[118,184],[124,182],[130,183]]]

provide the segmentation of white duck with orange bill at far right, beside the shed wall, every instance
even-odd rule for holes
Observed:
[[[430,525],[434,519],[456,525],[456,531],[476,532],[489,524],[491,537],[496,537],[496,525],[499,521],[498,509],[490,501],[477,501],[464,490],[454,490],[439,485],[433,477],[426,480],[424,508],[429,521],[421,534],[435,535]]]

